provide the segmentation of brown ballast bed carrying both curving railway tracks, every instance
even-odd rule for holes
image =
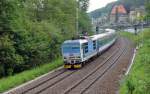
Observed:
[[[123,55],[123,53],[125,53],[127,49],[125,45],[125,40],[121,38],[112,48],[110,48],[110,51],[105,52],[104,55],[100,56],[91,63],[88,63],[82,69],[61,69],[56,73],[54,72],[55,74],[49,75],[42,81],[37,82],[35,85],[26,86],[23,89],[18,89],[9,94],[72,94],[72,91],[76,90],[76,94],[83,94],[90,88],[91,85],[93,85],[116,64],[117,60]],[[92,77],[94,77],[94,79]],[[87,81],[90,82],[86,84],[85,87],[84,84]],[[84,88],[81,88],[82,86],[84,86]]]

